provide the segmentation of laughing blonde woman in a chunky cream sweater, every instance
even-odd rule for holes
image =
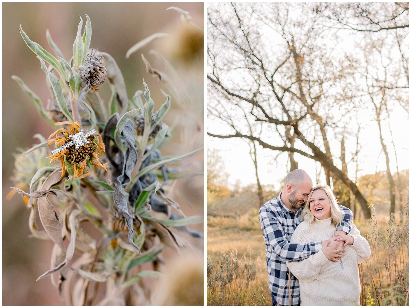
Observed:
[[[303,222],[294,231],[290,243],[308,243],[330,239],[341,222],[337,199],[327,185],[315,186],[302,210]],[[358,266],[369,257],[370,249],[353,224],[346,235],[346,250],[340,262],[329,261],[322,250],[299,262],[287,262],[300,282],[302,305],[358,305],[360,277]],[[334,245],[331,241],[330,245]]]

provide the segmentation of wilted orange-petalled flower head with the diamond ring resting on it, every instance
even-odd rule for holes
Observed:
[[[83,130],[80,130],[80,123],[76,121],[73,124],[70,121],[64,121],[53,124],[70,125],[69,131],[67,131],[65,128],[60,128],[53,132],[53,134],[51,134],[47,139],[50,140],[48,145],[54,143],[58,148],[64,148],[62,151],[47,157],[51,158],[51,163],[55,162],[56,160],[60,160],[62,167],[61,177],[63,177],[66,173],[66,165],[73,167],[74,178],[77,178],[77,176],[84,178],[89,174],[95,172],[95,170],[93,170],[83,174],[83,171],[87,166],[91,167],[91,165],[88,165],[89,162],[90,164],[101,167],[107,171],[106,165],[108,164],[108,162],[102,164],[98,158],[99,155],[103,155],[103,153],[105,152],[104,143],[102,141],[102,137],[99,134],[92,134],[89,136],[86,134],[87,137],[81,134],[84,138],[84,142],[80,147],[76,148],[74,144],[70,145],[69,143],[72,143],[72,141],[76,142],[74,141],[75,139],[72,140],[71,137],[74,138],[76,134],[83,132]],[[59,135],[60,133],[61,135]]]

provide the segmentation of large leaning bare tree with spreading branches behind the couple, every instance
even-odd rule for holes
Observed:
[[[337,167],[330,146],[330,138],[342,140],[353,133],[347,119],[356,108],[351,90],[355,63],[345,56],[334,58],[325,43],[328,30],[315,15],[295,18],[291,11],[298,7],[263,6],[231,4],[208,10],[208,117],[226,123],[232,133],[207,133],[292,153],[292,167],[296,154],[320,162],[327,182],[346,185],[369,218],[367,200]],[[262,27],[271,31],[269,41],[258,32]],[[261,123],[261,134],[245,131],[246,121]]]

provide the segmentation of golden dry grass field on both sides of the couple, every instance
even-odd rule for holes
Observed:
[[[234,211],[235,203],[229,202],[231,211],[222,211],[224,201],[208,207],[207,304],[271,305],[258,210]],[[359,266],[361,305],[408,305],[408,206],[395,221],[373,215],[354,223],[371,246]]]

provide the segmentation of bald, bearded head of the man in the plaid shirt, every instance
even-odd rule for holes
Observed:
[[[287,207],[299,209],[305,206],[312,189],[312,179],[302,169],[291,171],[285,178],[282,195]],[[286,204],[288,201],[289,204]]]

